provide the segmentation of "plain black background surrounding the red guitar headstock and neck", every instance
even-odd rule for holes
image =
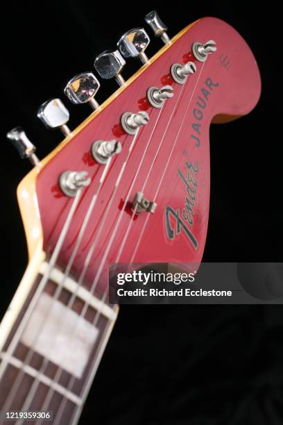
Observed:
[[[36,118],[65,83],[156,9],[175,35],[190,22],[229,22],[255,53],[261,100],[211,128],[212,192],[206,261],[282,260],[282,143],[276,3],[12,1],[1,5],[1,313],[27,263],[16,188],[30,169],[5,140],[25,128],[44,157],[61,140]],[[149,30],[148,30],[149,32]],[[151,56],[162,46],[152,41]],[[124,76],[138,67],[132,61]],[[116,89],[103,83],[98,101]],[[72,106],[74,128],[89,106]],[[81,424],[282,424],[281,306],[122,306]]]

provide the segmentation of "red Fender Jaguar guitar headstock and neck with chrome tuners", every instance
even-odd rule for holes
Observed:
[[[46,158],[22,128],[8,133],[34,165],[17,191],[29,263],[0,328],[0,405],[16,424],[78,422],[118,314],[110,263],[200,263],[209,125],[259,99],[257,63],[231,26],[207,17],[170,39],[156,12],[146,22],[164,42],[153,58],[143,28],[96,58],[96,75],[120,86],[103,104],[92,72],[67,84],[69,101],[94,109],[78,128],[60,99],[40,107],[42,122],[65,134]],[[141,67],[124,81],[130,57]]]

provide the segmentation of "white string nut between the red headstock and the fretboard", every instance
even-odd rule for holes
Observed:
[[[44,274],[48,267],[48,263],[42,263],[40,267],[40,273]],[[60,269],[54,267],[50,273],[50,279],[54,283],[60,285],[62,284],[62,281],[64,279],[64,273],[61,272]],[[99,313],[101,313],[105,317],[108,317],[108,319],[115,320],[117,318],[116,309],[114,310],[105,302],[102,302],[100,299],[95,297],[95,295],[91,294],[88,290],[86,290],[82,285],[78,285],[78,283],[76,283],[76,281],[74,281],[74,279],[72,279],[70,276],[67,276],[67,278],[64,279],[63,287],[69,292],[76,294],[76,297],[80,298],[85,303],[88,303],[89,306],[99,311]]]

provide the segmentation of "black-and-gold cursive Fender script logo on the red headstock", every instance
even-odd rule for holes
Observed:
[[[174,210],[171,206],[167,205],[165,208],[165,224],[166,233],[169,239],[173,240],[175,235],[179,235],[181,231],[184,231],[187,238],[195,249],[198,247],[198,241],[191,232],[190,227],[194,224],[194,206],[196,201],[196,188],[197,180],[196,174],[198,173],[198,162],[195,165],[192,163],[186,163],[187,176],[185,176],[180,169],[178,174],[185,184],[186,196],[185,206],[182,208],[182,215],[180,211]],[[173,224],[173,226],[171,225]]]

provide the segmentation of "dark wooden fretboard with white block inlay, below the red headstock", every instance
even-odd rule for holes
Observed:
[[[0,410],[52,411],[52,424],[76,424],[117,308],[54,268],[19,335],[47,268],[42,263],[0,353]]]

